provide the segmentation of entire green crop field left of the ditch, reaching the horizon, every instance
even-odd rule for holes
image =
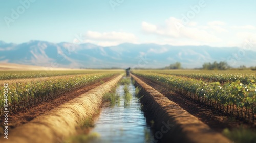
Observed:
[[[94,71],[0,71],[2,80],[0,92],[0,114],[3,114],[5,100],[8,99],[9,111],[18,111],[35,105],[60,94],[74,91],[99,80],[120,74],[118,70]],[[44,77],[44,78],[38,78]],[[29,79],[28,79],[29,78]],[[7,98],[6,98],[7,97]]]

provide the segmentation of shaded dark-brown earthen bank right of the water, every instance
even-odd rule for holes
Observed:
[[[140,86],[141,103],[154,119],[155,138],[161,142],[231,142],[163,94],[132,75]],[[157,140],[156,140],[157,141]]]

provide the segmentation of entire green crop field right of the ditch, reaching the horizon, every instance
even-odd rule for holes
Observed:
[[[133,73],[232,116],[255,122],[253,71],[134,70]]]

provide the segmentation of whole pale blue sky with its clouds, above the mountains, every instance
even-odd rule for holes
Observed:
[[[256,41],[256,1],[252,0],[0,2],[0,40],[5,42],[242,47],[245,40]],[[13,18],[15,12],[18,16]]]

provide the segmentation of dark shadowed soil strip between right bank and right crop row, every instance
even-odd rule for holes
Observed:
[[[137,77],[139,77],[146,84],[150,85],[160,93],[162,93],[169,100],[181,106],[181,108],[183,108],[190,114],[196,116],[199,120],[201,120],[202,122],[210,126],[211,129],[214,129],[217,132],[221,133],[225,128],[232,130],[240,126],[243,126],[245,128],[255,128],[255,125],[253,125],[252,123],[237,120],[236,118],[230,117],[223,112],[219,112],[212,107],[202,105],[201,103],[188,99],[181,94],[169,91],[168,89],[157,84],[154,81],[145,79],[140,76]]]

